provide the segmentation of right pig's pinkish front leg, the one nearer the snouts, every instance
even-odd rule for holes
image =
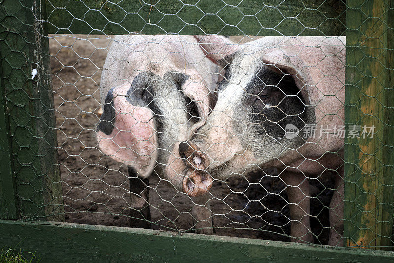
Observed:
[[[287,185],[286,192],[289,197],[290,208],[290,235],[292,242],[313,242],[309,222],[310,200],[309,181],[301,173],[283,171],[280,175]]]

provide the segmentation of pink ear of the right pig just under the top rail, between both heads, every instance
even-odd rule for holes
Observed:
[[[199,35],[195,36],[195,38],[206,56],[215,63],[241,50],[237,43],[224,36]]]

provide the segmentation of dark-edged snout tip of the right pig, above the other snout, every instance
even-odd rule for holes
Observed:
[[[208,156],[190,141],[179,144],[179,156],[184,159],[185,164],[190,168],[205,171],[209,166]]]

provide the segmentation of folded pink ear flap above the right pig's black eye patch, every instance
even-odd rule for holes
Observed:
[[[310,101],[308,93],[314,85],[312,77],[297,56],[286,56],[282,50],[274,50],[263,55],[263,63],[275,72],[291,75],[303,97]]]

